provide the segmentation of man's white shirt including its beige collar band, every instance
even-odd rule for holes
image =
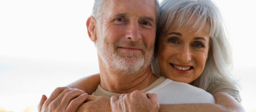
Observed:
[[[146,93],[156,93],[159,104],[188,104],[188,103],[212,103],[215,99],[212,94],[195,86],[160,77],[150,86],[140,90]],[[95,96],[110,98],[113,95],[120,96],[118,93],[111,93],[98,86],[92,93]]]

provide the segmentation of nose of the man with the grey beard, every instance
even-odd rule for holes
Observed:
[[[142,39],[140,27],[138,23],[129,24],[128,31],[126,32],[126,38],[132,41]]]

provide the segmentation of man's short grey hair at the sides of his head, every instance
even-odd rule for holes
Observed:
[[[104,5],[105,0],[95,0],[94,1],[94,7],[92,8],[92,16],[96,19],[99,20],[100,16],[104,12],[104,9],[106,5]],[[154,0],[157,8],[157,15],[156,15],[156,24],[158,24],[158,18],[160,16],[160,6],[158,0]]]

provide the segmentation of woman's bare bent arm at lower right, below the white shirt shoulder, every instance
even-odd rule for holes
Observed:
[[[242,105],[227,93],[213,94],[216,104],[160,104],[160,112],[245,112]]]

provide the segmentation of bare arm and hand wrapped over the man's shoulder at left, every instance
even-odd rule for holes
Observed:
[[[67,87],[56,88],[49,99],[47,99],[45,95],[42,96],[37,107],[38,112],[76,111],[87,99],[88,94],[92,94],[96,90],[99,83],[100,76],[99,74],[95,74],[81,78],[80,80],[67,85]]]

